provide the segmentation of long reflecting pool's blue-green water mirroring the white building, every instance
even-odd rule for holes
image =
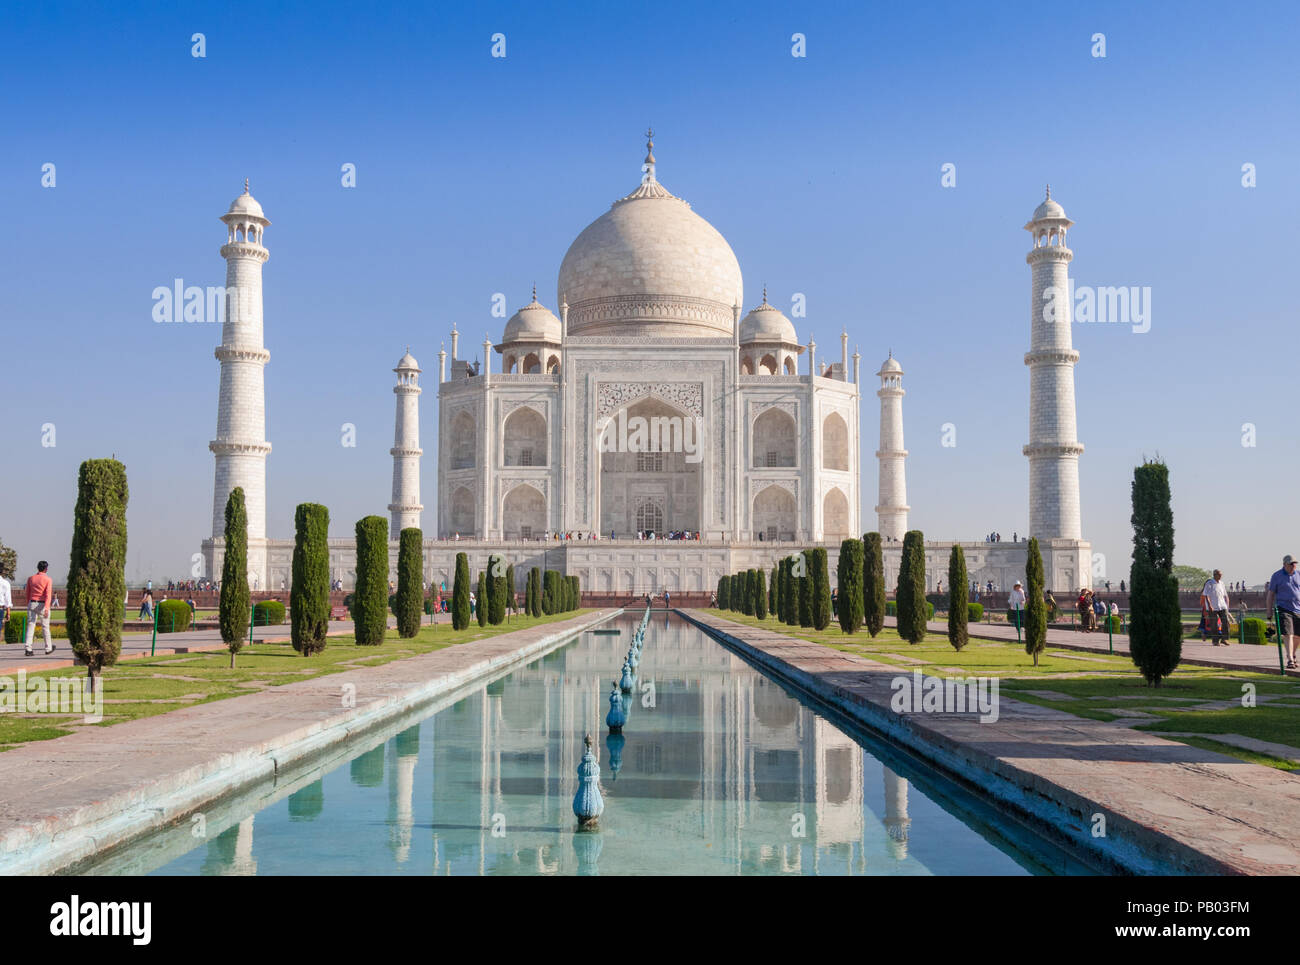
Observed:
[[[623,740],[604,727],[640,614],[391,734],[344,747],[87,873],[1084,874],[918,763],[846,730],[686,620],[651,620]],[[572,802],[582,737],[598,831]],[[350,760],[347,760],[350,757]]]

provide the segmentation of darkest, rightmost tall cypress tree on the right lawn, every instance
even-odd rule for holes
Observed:
[[[1174,576],[1174,510],[1169,467],[1147,462],[1134,469],[1134,562],[1128,571],[1128,650],[1152,687],[1183,657],[1183,626]]]

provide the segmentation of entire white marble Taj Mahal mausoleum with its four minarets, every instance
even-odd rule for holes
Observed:
[[[242,486],[250,584],[280,589],[291,579],[294,541],[268,538],[265,525],[270,354],[261,274],[270,221],[247,185],[221,220],[226,287],[240,298],[238,311],[226,303],[216,349],[213,515],[203,555],[207,572],[220,574],[226,499]],[[1040,310],[1044,293],[1066,289],[1072,224],[1049,191],[1024,225],[1032,239],[1023,447],[1030,535],[1040,541],[1048,585],[1058,593],[1089,584],[1092,558],[1080,524],[1079,355],[1069,311],[1053,323]],[[530,566],[545,566],[580,576],[584,590],[615,596],[707,592],[724,574],[770,570],[811,545],[826,546],[833,572],[841,540],[875,529],[885,541],[887,587],[893,587],[910,511],[902,364],[889,354],[868,376],[878,380],[879,476],[874,518],[864,518],[862,356],[849,355],[841,332],[837,356],[819,358],[816,342],[801,341],[766,290],[746,311],[736,255],[659,182],[653,135],[640,183],[569,246],[552,304],[540,300],[534,286],[500,341],[482,342],[481,363],[462,356],[452,326],[450,358],[446,343],[437,354],[437,497],[428,510],[420,488],[425,373],[410,349],[394,368],[387,505],[394,575],[398,535],[408,527],[424,532],[425,577],[433,584],[451,585],[455,555],[464,551],[472,572],[502,554],[520,580]],[[334,520],[335,531],[350,531],[351,523]],[[681,538],[663,538],[670,533]],[[952,545],[927,541],[930,588],[946,577]],[[972,580],[1006,588],[1023,576],[1023,542],[962,546]],[[330,568],[352,585],[351,537],[330,538]]]

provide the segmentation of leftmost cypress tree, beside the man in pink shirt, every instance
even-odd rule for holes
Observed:
[[[122,652],[126,596],[126,467],[87,459],[77,473],[73,548],[68,563],[68,641],[86,663],[90,688]]]

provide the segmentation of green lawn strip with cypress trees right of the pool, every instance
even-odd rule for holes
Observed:
[[[1252,763],[1300,771],[1300,765],[1292,761],[1210,740],[1213,735],[1238,734],[1300,749],[1300,680],[1295,678],[1183,666],[1166,678],[1161,687],[1152,688],[1124,655],[1078,653],[1049,646],[1039,655],[1039,666],[1035,667],[1024,648],[1014,642],[972,637],[958,652],[944,633],[928,633],[922,642],[909,644],[892,627],[885,627],[872,639],[864,629],[854,635],[844,633],[838,623],[831,623],[819,632],[788,627],[771,616],[758,620],[737,613],[719,615],[750,627],[811,640],[900,670],[923,670],[935,676],[997,676],[1002,692],[1009,697],[1093,720],[1150,714],[1150,723],[1135,724],[1135,730],[1196,732],[1205,736],[1169,736],[1169,740],[1209,748]],[[1283,700],[1278,704],[1265,700],[1253,707],[1244,707],[1240,704],[1243,684],[1253,684],[1261,697]],[[1035,691],[1050,694],[1034,693]],[[1210,701],[1232,701],[1234,706],[1191,709]]]

